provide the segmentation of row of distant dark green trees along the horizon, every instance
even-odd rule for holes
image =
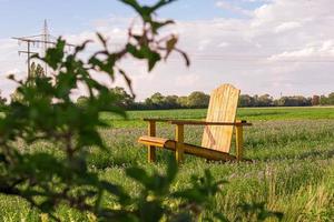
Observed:
[[[207,108],[209,103],[209,94],[200,91],[191,92],[187,97],[163,95],[160,92],[154,93],[151,97],[141,102],[135,101],[124,88],[116,87],[111,89],[118,101],[118,105],[127,110],[165,110],[165,109],[199,109]],[[78,98],[78,103],[85,103],[87,98]],[[242,94],[239,97],[238,107],[240,108],[261,108],[261,107],[311,107],[311,105],[334,105],[334,92],[328,95],[313,95],[306,98],[303,95],[281,97],[274,99],[269,94],[249,95]]]

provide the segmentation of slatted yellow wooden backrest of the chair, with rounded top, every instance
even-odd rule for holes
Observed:
[[[230,84],[223,84],[215,89],[206,115],[207,122],[235,122],[240,90]],[[202,147],[229,152],[233,125],[206,125]]]

